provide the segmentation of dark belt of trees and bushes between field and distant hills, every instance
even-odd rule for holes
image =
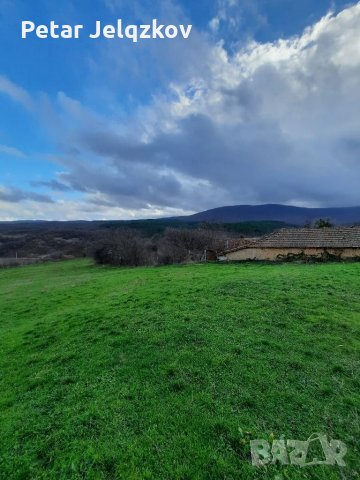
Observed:
[[[328,219],[307,224],[331,226]],[[177,219],[103,222],[0,222],[0,259],[40,261],[92,257],[111,265],[166,265],[200,261],[205,250],[232,248],[282,222],[216,224]],[[234,244],[235,242],[235,244]],[[3,262],[4,263],[4,262]]]

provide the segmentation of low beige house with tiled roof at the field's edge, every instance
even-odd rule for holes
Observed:
[[[288,228],[218,255],[218,260],[360,260],[360,227]]]

